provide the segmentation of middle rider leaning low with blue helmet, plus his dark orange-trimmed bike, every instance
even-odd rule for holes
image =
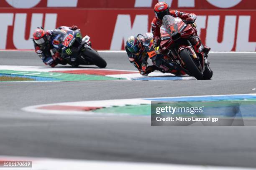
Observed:
[[[178,73],[172,64],[167,64],[162,54],[156,54],[153,48],[153,35],[146,33],[128,37],[125,45],[129,61],[139,70],[140,74],[147,76],[150,72],[159,70],[163,73]],[[147,66],[148,57],[154,65]],[[185,74],[185,73],[179,73]]]

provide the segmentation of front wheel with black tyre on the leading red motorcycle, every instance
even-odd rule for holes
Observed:
[[[195,64],[195,61],[189,55],[187,49],[184,49],[180,52],[180,57],[185,62],[185,67],[192,74],[192,76],[194,76],[197,80],[203,80],[203,72],[199,70]]]

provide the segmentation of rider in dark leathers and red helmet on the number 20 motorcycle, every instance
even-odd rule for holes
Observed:
[[[35,47],[36,54],[43,60],[46,65],[55,67],[57,64],[66,65],[67,62],[61,60],[60,50],[54,50],[54,55],[51,55],[51,50],[54,47],[58,47],[60,43],[60,34],[64,33],[63,30],[77,30],[77,26],[72,27],[61,26],[55,30],[45,31],[43,28],[37,28],[33,33],[33,43]],[[62,30],[62,31],[61,31]],[[72,58],[75,61],[75,58]]]

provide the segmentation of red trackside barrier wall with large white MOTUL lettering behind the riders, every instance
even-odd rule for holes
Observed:
[[[64,0],[62,7],[53,0],[35,0],[24,3],[27,6],[23,4],[28,9],[18,9],[15,8],[18,1],[16,4],[11,4],[15,0],[3,1],[0,4],[0,49],[19,50],[33,49],[30,37],[36,27],[43,26],[49,30],[61,25],[77,25],[82,35],[91,37],[92,45],[97,50],[123,50],[127,37],[150,32],[154,18],[152,6],[155,4],[155,0],[122,3],[113,3],[118,0],[101,0],[96,4],[88,2],[90,5],[87,6],[105,8],[83,8],[88,0]],[[234,0],[234,3],[240,2],[233,6],[223,2],[223,6],[228,8],[223,9],[218,7],[219,0],[201,0],[201,3],[198,0],[186,1],[188,7],[184,7],[179,0],[173,0],[171,5],[197,14],[198,34],[203,43],[212,47],[212,51],[256,50],[256,2],[249,5],[246,0]],[[202,5],[207,10],[202,9]]]

